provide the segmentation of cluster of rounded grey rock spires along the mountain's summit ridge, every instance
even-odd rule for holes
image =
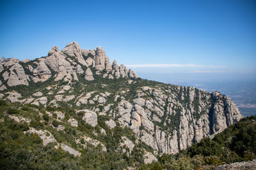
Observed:
[[[138,78],[134,71],[128,71],[122,64],[118,66],[116,60],[111,65],[109,57],[106,57],[106,53],[101,46],[93,50],[84,50],[76,42],[69,43],[61,51],[59,51],[58,46],[52,46],[47,57],[35,61],[24,60],[21,62],[18,59],[5,59],[4,57],[0,60],[0,72],[4,71],[4,67],[9,68],[2,74],[3,80],[8,81],[1,85],[0,90],[6,89],[6,85],[9,87],[29,85],[31,80],[35,83],[44,82],[52,76],[55,81],[78,81],[77,74],[83,74],[84,72],[86,73],[85,79],[92,81],[94,78],[90,67],[97,69],[95,74],[106,71],[106,74],[102,74],[103,78]],[[84,67],[87,69],[84,69]]]

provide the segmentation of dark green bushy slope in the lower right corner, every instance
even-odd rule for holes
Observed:
[[[176,155],[163,154],[159,162],[139,169],[212,169],[221,164],[255,159],[256,117],[246,117],[211,140],[204,138]]]

